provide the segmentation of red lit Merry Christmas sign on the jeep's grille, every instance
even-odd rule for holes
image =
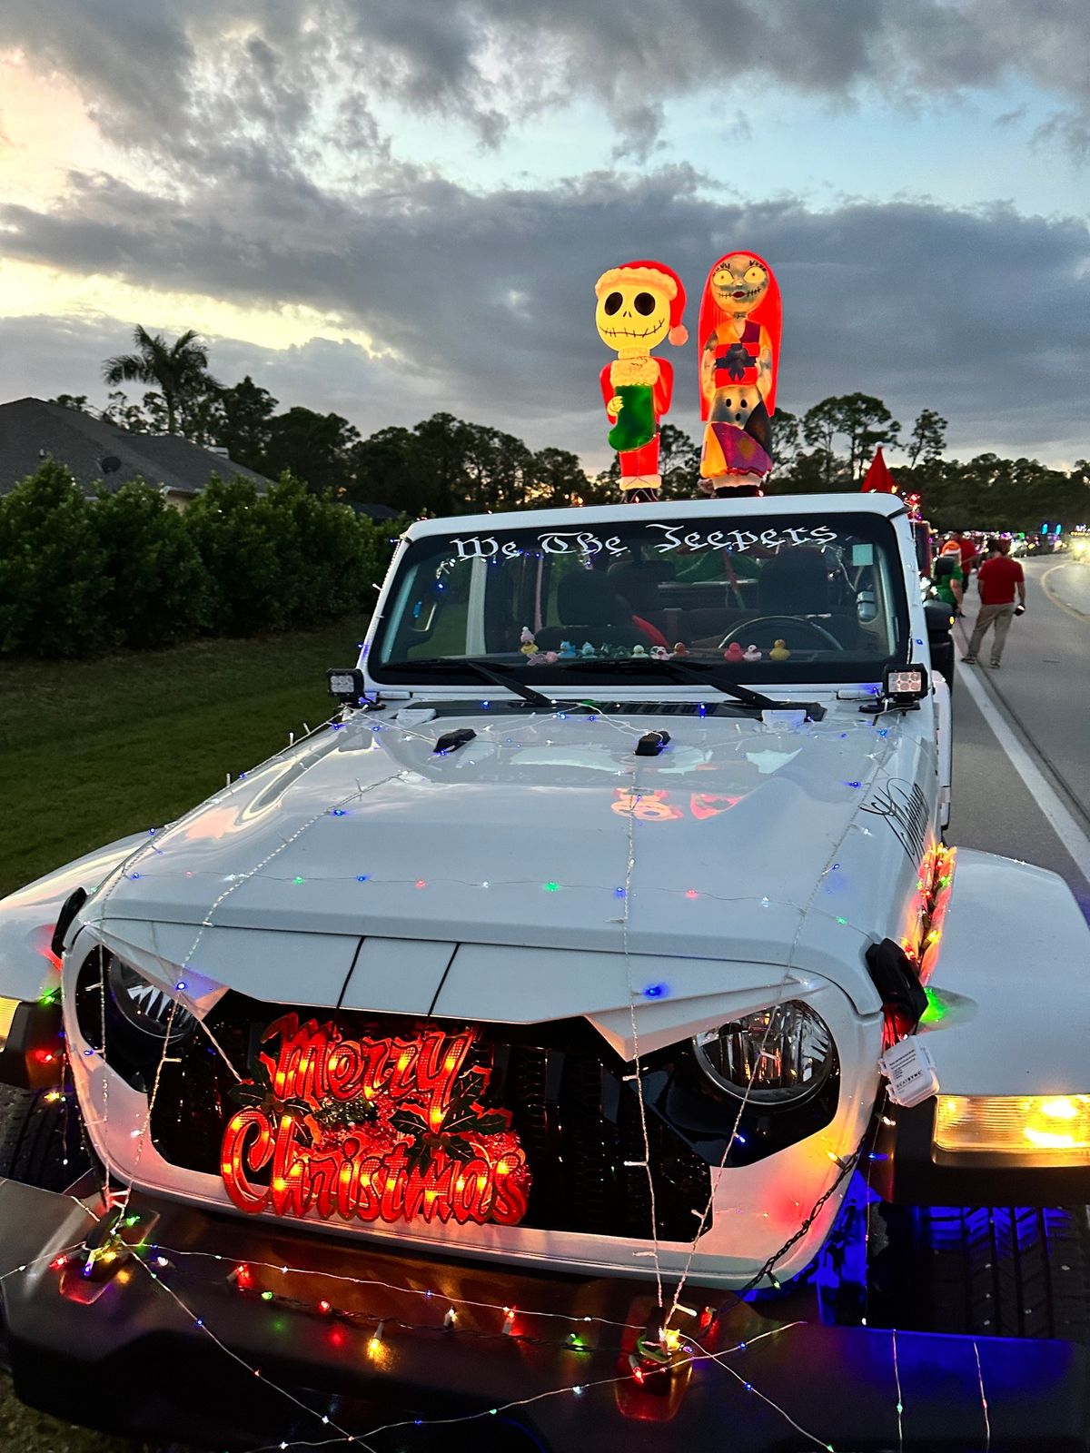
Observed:
[[[285,1014],[262,1036],[219,1170],[240,1210],[403,1222],[526,1215],[530,1173],[510,1112],[480,1103],[490,1071],[467,1067],[475,1030],[353,1039]]]

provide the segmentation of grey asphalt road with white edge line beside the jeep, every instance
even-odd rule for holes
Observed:
[[[1061,873],[1090,918],[1090,564],[1023,564],[1026,613],[1001,668],[956,668],[948,835]],[[958,655],[978,604],[974,580]]]

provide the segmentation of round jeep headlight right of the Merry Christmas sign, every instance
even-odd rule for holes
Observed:
[[[810,1100],[836,1068],[828,1024],[799,1000],[703,1030],[693,1053],[727,1094],[767,1109]]]

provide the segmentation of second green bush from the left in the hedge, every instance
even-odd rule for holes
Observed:
[[[186,522],[158,490],[125,484],[92,511],[106,559],[103,610],[134,649],[174,645],[208,620],[209,580]]]

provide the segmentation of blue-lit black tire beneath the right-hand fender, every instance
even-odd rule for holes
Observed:
[[[1090,1343],[1090,1207],[884,1210],[888,1325]]]

